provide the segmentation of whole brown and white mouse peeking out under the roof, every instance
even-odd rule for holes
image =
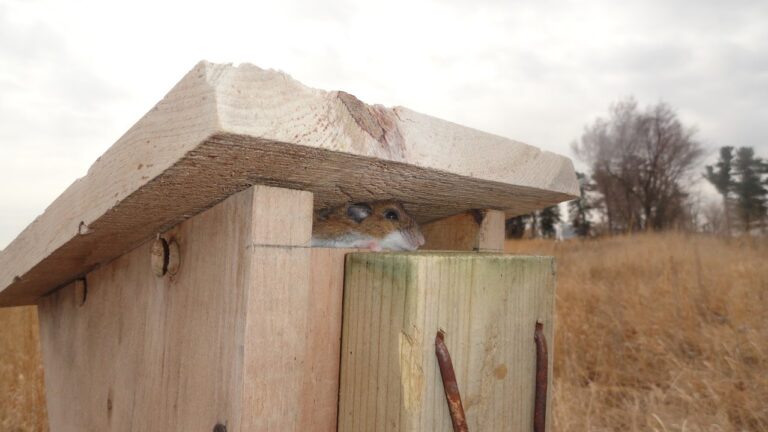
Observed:
[[[347,203],[315,212],[313,247],[413,251],[424,245],[416,219],[397,201]]]

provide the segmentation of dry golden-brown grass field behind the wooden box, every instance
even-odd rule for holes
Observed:
[[[765,239],[507,248],[557,257],[553,430],[768,430]],[[46,430],[34,310],[0,310],[0,328],[0,430]]]

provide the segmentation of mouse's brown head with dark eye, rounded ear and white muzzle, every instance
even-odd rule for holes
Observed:
[[[378,242],[382,249],[416,250],[424,236],[416,220],[396,201],[345,204],[319,215],[318,228],[335,227],[334,234],[355,233]]]

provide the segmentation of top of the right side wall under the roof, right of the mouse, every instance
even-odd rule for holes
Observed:
[[[504,252],[504,212],[470,210],[424,224],[422,250]]]

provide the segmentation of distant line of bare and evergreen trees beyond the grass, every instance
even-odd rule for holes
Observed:
[[[621,100],[608,118],[587,125],[571,147],[589,168],[577,173],[580,197],[567,205],[571,234],[699,228],[702,209],[690,188],[704,150],[695,128],[684,125],[669,105],[640,109],[633,98]],[[728,232],[765,231],[768,163],[752,148],[723,147],[704,177],[723,202],[722,212],[704,212],[711,225]],[[558,206],[517,216],[507,221],[507,236],[554,237],[560,221]]]

